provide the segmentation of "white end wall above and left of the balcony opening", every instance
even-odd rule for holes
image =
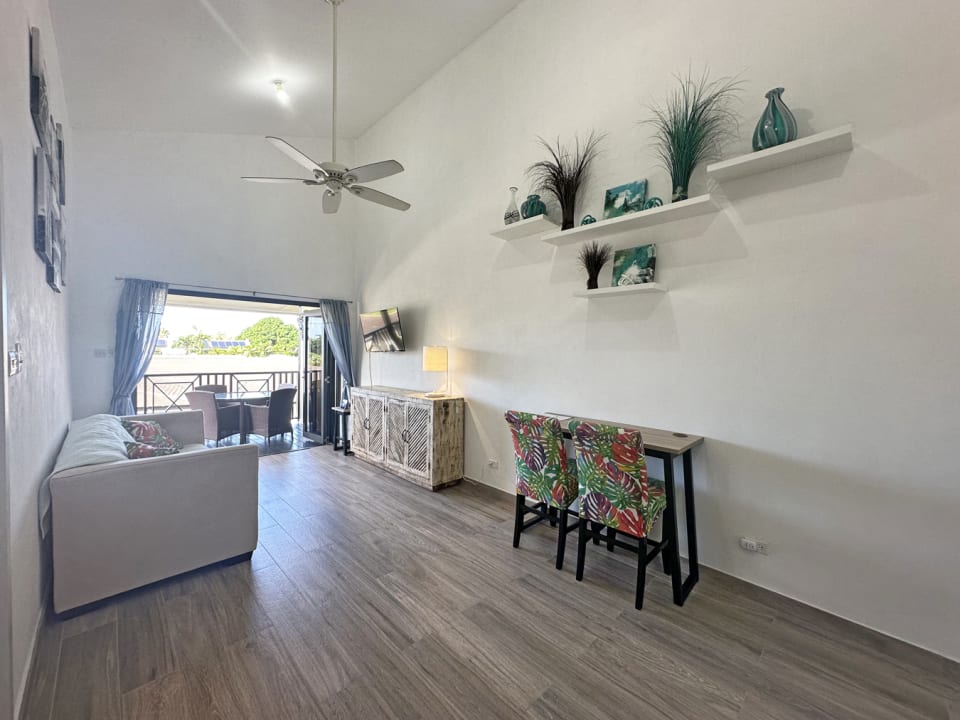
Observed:
[[[327,140],[291,142],[329,154]],[[353,296],[350,199],[324,215],[320,189],[240,180],[306,177],[262,137],[77,130],[74,144],[83,178],[71,217],[74,417],[110,404],[113,358],[94,352],[114,346],[118,276]],[[352,148],[340,145],[349,162]]]

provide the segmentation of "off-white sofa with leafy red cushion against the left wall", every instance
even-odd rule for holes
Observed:
[[[257,546],[256,446],[207,448],[199,411],[132,419],[159,422],[184,444],[183,451],[50,476],[57,613],[204,565],[249,557]],[[68,434],[61,456],[71,441],[76,448],[97,439]]]

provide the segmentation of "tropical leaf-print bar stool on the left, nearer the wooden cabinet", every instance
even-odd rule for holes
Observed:
[[[570,526],[568,516],[575,513],[570,505],[577,499],[577,473],[567,462],[563,451],[563,431],[556,418],[509,410],[504,414],[517,462],[517,508],[513,522],[513,546],[520,547],[520,533],[548,520],[551,527],[560,525],[557,537],[557,570],[563,568],[567,533],[581,523]],[[534,501],[527,505],[526,499]],[[524,516],[534,515],[524,522]]]

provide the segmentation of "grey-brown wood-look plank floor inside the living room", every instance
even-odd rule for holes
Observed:
[[[709,570],[678,608],[651,566],[638,612],[626,553],[577,583],[487,488],[329,448],[260,487],[251,563],[45,626],[22,717],[960,720],[953,663]]]

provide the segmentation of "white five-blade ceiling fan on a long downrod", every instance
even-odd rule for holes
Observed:
[[[381,178],[396,175],[403,172],[403,165],[396,160],[383,160],[382,162],[361,165],[360,167],[348,168],[337,162],[337,7],[343,0],[326,0],[328,5],[333,7],[333,125],[331,133],[333,140],[331,142],[331,156],[329,162],[318,163],[311,160],[304,153],[300,152],[286,140],[278,137],[267,136],[267,140],[284,155],[294,162],[302,165],[313,173],[312,178],[281,178],[281,177],[244,177],[244,180],[251,182],[268,183],[303,183],[312,187],[322,187],[323,190],[323,211],[325,213],[335,213],[340,209],[341,193],[346,190],[352,195],[356,195],[364,200],[385,205],[394,210],[409,210],[410,203],[404,202],[392,195],[387,195],[379,190],[364,187],[359,183],[380,180]]]

